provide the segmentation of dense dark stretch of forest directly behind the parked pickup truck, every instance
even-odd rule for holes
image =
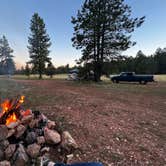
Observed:
[[[120,56],[103,65],[103,74],[133,71],[138,74],[166,74],[166,48],[158,48],[154,54],[146,56],[141,50],[136,56]]]

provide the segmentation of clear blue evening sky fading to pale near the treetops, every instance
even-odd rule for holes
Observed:
[[[135,56],[138,50],[142,50],[150,55],[158,47],[166,47],[166,0],[126,2],[133,9],[133,16],[145,15],[146,21],[133,33],[132,39],[137,45],[124,54]],[[82,3],[83,0],[0,0],[0,36],[5,35],[9,40],[17,65],[24,65],[29,59],[27,40],[34,12],[45,21],[52,42],[50,57],[55,66],[73,65],[81,53],[72,47],[73,25],[70,21]]]

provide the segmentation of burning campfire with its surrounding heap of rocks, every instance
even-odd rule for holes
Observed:
[[[78,147],[75,140],[40,111],[24,110],[24,99],[20,96],[1,104],[0,165],[42,165],[42,158],[54,151],[53,160],[68,162]]]

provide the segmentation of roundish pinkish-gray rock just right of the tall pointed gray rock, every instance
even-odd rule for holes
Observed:
[[[28,147],[27,147],[27,153],[29,154],[29,156],[31,158],[36,158],[39,155],[40,148],[41,148],[41,146],[38,145],[38,144],[36,144],[36,143],[28,145]]]

